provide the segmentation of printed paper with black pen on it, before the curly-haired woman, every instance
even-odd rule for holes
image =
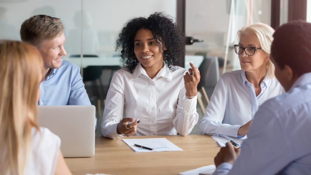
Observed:
[[[149,139],[122,139],[128,146],[130,146],[135,152],[154,152],[154,151],[182,151],[181,148],[170,142],[165,138],[149,138]],[[151,148],[148,150],[134,146],[138,144]]]

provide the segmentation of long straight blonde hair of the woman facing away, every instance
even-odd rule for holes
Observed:
[[[31,129],[39,130],[37,94],[43,61],[34,46],[0,41],[0,63],[0,174],[22,175]]]

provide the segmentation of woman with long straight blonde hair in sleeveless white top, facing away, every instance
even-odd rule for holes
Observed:
[[[60,139],[36,124],[43,61],[19,41],[0,41],[0,174],[71,174]]]

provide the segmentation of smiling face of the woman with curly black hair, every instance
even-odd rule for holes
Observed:
[[[162,43],[160,43],[162,47]],[[163,55],[159,44],[149,29],[139,29],[134,37],[134,53],[144,69],[163,67]]]

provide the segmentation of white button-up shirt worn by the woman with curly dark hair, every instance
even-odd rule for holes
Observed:
[[[188,99],[183,75],[186,69],[166,64],[155,78],[141,64],[133,73],[123,68],[114,73],[104,108],[101,135],[112,139],[121,117],[139,118],[135,135],[188,135],[198,121],[197,97]]]

